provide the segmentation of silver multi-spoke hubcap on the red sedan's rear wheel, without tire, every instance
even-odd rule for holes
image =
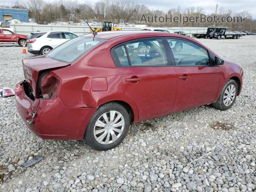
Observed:
[[[114,143],[124,132],[124,116],[118,111],[109,111],[100,116],[94,125],[94,138],[100,144]]]

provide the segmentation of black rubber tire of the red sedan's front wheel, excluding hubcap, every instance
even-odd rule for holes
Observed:
[[[235,98],[234,98],[233,102],[229,106],[225,106],[224,102],[223,102],[224,93],[225,93],[226,89],[228,88],[228,86],[230,86],[231,84],[233,84],[235,86],[235,88],[236,88]],[[218,100],[215,103],[212,103],[212,106],[214,108],[217,108],[217,109],[222,110],[222,111],[229,109],[230,107],[233,106],[234,102],[236,101],[237,93],[238,93],[238,85],[237,85],[237,83],[234,80],[232,80],[232,79],[228,80],[228,82],[226,82],[226,84],[224,85]]]

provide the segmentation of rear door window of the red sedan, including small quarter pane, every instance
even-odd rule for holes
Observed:
[[[127,50],[127,53],[126,53]],[[161,39],[139,40],[115,48],[121,66],[167,66]]]

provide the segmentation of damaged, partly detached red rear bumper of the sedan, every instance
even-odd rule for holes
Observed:
[[[25,82],[26,83],[26,82]],[[96,108],[70,108],[60,98],[30,99],[20,82],[15,90],[16,108],[26,126],[44,139],[82,140],[84,132]],[[33,124],[30,114],[35,113]]]

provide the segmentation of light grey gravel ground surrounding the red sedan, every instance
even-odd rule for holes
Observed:
[[[22,122],[14,97],[0,98],[0,191],[256,191],[256,36],[199,41],[243,67],[234,106],[201,106],[134,124],[112,150],[42,140]],[[21,52],[0,45],[0,87],[24,79],[21,59],[32,55]],[[38,155],[44,159],[21,166]]]

